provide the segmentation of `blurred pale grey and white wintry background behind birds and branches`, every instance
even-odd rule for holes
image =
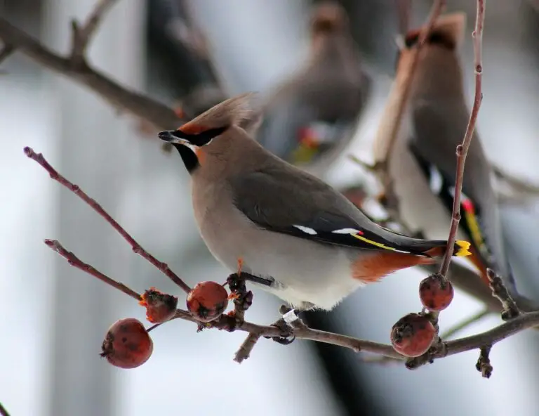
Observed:
[[[93,39],[91,63],[121,84],[168,104],[195,82],[204,83],[208,68],[194,65],[194,77],[189,78],[183,71],[188,64],[181,64],[185,57],[168,48],[166,37],[160,38],[164,24],[159,25],[159,13],[173,3],[119,0]],[[229,94],[268,91],[305,58],[309,1],[188,3],[208,37],[213,70]],[[93,4],[94,0],[4,0],[0,15],[64,53],[69,48],[69,20],[84,19]],[[399,20],[393,0],[343,4],[376,80],[372,117],[361,126],[355,151],[369,143],[380,122],[394,74]],[[411,22],[417,26],[431,2],[412,4]],[[448,1],[448,10],[469,15],[463,62],[471,91],[475,2]],[[157,20],[152,21],[155,13]],[[170,60],[178,64],[167,65]],[[105,221],[29,162],[22,153],[25,145],[44,152],[189,285],[223,280],[227,272],[201,243],[187,173],[177,155],[167,154],[158,141],[142,134],[138,120],[118,115],[91,91],[24,56],[15,54],[1,67],[7,73],[0,75],[0,401],[11,415],[539,414],[539,339],[533,332],[493,348],[494,372],[488,380],[474,368],[477,351],[411,372],[402,366],[361,363],[354,353],[331,346],[298,341],[285,347],[262,339],[251,358],[237,365],[232,356],[244,333],[197,334],[194,325],[180,320],[152,333],[154,353],[148,363],[136,370],[112,368],[98,356],[107,327],[128,316],[142,320],[144,310],[124,294],[69,268],[42,240],[57,238],[81,259],[135,290],[155,285],[179,294],[180,304],[183,295],[133,254]],[[538,67],[538,11],[528,1],[487,1],[479,131],[493,161],[534,183],[539,183]],[[343,160],[328,178],[334,183],[358,181],[361,171]],[[537,205],[527,211],[503,210],[514,268],[523,274],[537,275],[538,213]],[[392,324],[419,309],[422,276],[420,271],[397,273],[353,294],[331,313],[310,316],[310,323],[389,342]],[[537,299],[538,282],[539,278],[520,283]],[[255,291],[248,320],[273,322],[279,304],[279,299]],[[441,329],[480,309],[479,302],[457,292],[442,314]],[[497,323],[498,318],[488,318],[463,334]]]

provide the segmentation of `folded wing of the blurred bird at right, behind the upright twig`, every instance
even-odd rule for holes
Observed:
[[[456,171],[455,149],[463,141],[469,117],[467,108],[462,100],[436,105],[420,101],[413,107],[412,117],[411,152],[428,181],[437,176],[436,181],[441,185],[437,190],[438,196],[451,212]],[[484,264],[507,276],[514,285],[491,185],[491,167],[477,135],[472,138],[467,155],[463,194],[461,227],[470,235],[472,245]]]

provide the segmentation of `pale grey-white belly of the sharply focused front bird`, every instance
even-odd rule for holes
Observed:
[[[237,271],[241,259],[243,271],[276,281],[260,287],[300,308],[309,302],[331,309],[362,285],[352,278],[352,252],[260,230],[232,210],[226,224],[210,215],[200,227],[208,249],[230,271]]]

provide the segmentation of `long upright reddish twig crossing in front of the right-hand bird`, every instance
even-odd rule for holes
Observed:
[[[447,241],[447,249],[444,255],[444,260],[441,262],[440,266],[440,274],[443,276],[447,275],[449,264],[451,263],[451,257],[453,256],[453,247],[455,246],[458,223],[460,222],[460,195],[463,192],[463,179],[466,156],[468,154],[468,149],[470,148],[470,143],[472,143],[475,124],[477,122],[477,115],[479,114],[479,108],[481,108],[481,101],[483,100],[481,84],[483,80],[482,41],[484,21],[485,1],[477,0],[477,16],[475,19],[475,29],[472,33],[472,38],[474,39],[475,70],[474,105],[472,107],[472,112],[470,113],[470,120],[468,121],[468,125],[466,127],[466,133],[464,135],[463,143],[457,146],[457,172],[455,180],[455,196],[453,197],[453,213],[451,215],[451,228],[449,230],[449,237]]]

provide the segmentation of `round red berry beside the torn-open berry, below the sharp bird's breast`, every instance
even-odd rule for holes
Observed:
[[[201,322],[211,322],[228,306],[228,293],[217,282],[200,282],[187,294],[187,309]]]

